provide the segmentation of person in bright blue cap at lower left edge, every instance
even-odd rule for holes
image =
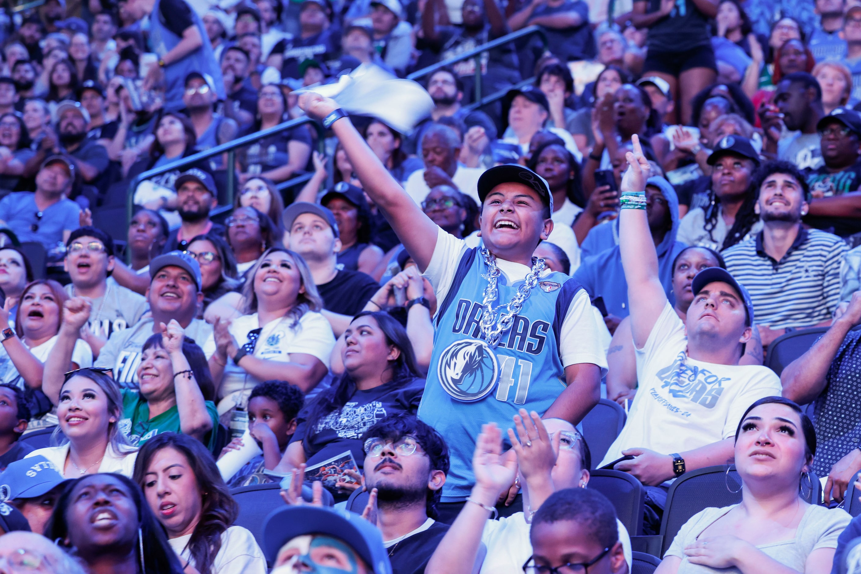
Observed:
[[[15,460],[0,474],[0,489],[9,496],[5,502],[21,511],[36,534],[45,531],[65,483],[66,478],[44,456]]]

